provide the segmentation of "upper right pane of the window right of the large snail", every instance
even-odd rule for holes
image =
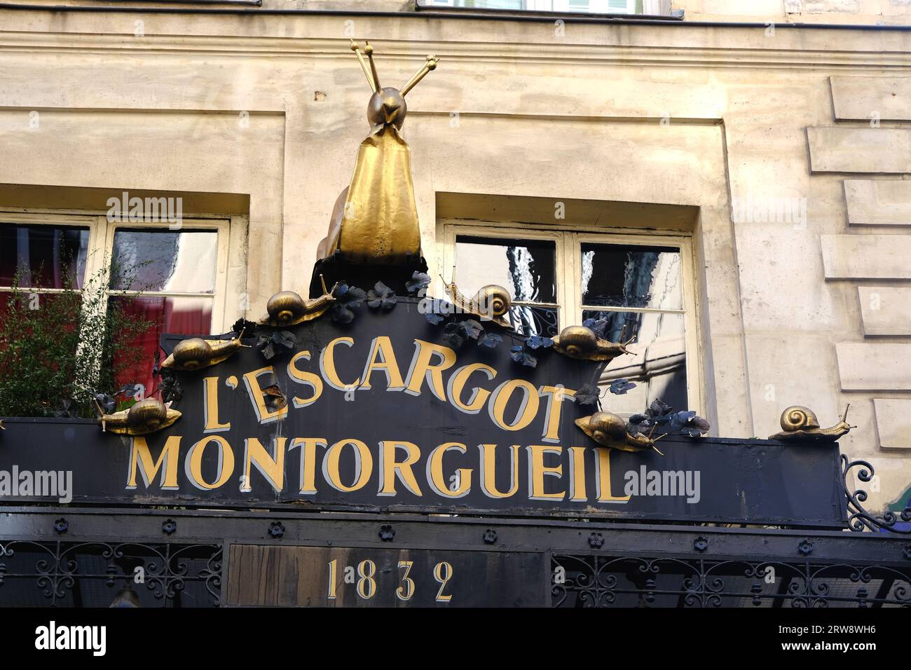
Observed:
[[[681,253],[676,247],[581,245],[582,304],[682,309]]]

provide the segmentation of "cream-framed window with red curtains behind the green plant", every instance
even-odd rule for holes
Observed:
[[[54,294],[67,285],[65,271],[83,288],[114,259],[107,304],[126,303],[124,294],[142,290],[126,308],[155,323],[133,343],[148,365],[120,381],[151,393],[161,334],[210,335],[223,327],[229,228],[220,219],[184,218],[179,230],[170,230],[167,223],[108,222],[106,215],[0,212],[0,309],[17,269],[24,288],[38,284],[35,293]]]

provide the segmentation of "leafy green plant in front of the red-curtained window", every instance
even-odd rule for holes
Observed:
[[[111,263],[109,272],[128,280],[120,285],[134,284],[135,270],[129,277]],[[95,394],[117,396],[118,379],[141,366],[143,354],[130,344],[154,322],[128,314],[141,289],[108,303],[107,277],[99,271],[81,289],[70,279],[59,291],[36,293],[43,287],[23,287],[15,273],[12,291],[0,297],[0,416],[94,417]]]

